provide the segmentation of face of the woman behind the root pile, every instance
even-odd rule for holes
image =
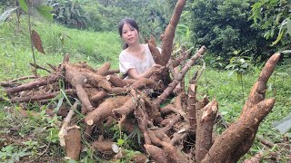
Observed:
[[[122,28],[122,39],[127,44],[133,44],[139,42],[138,31],[130,24],[124,24]]]

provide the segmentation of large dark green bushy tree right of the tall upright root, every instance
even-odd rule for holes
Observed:
[[[197,0],[191,1],[192,42],[206,45],[210,53],[228,61],[232,52],[249,50],[249,56],[269,55],[270,48],[261,31],[248,21],[251,0]],[[266,55],[266,56],[267,56]],[[265,58],[266,58],[265,56]]]

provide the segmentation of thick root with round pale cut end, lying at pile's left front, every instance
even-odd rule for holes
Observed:
[[[105,120],[112,114],[113,109],[121,107],[129,98],[129,96],[117,96],[115,98],[106,99],[98,108],[85,116],[85,123],[92,126],[99,121]]]

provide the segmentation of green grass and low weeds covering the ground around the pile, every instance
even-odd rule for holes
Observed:
[[[58,65],[63,61],[65,53],[69,53],[71,62],[87,62],[94,68],[99,67],[104,62],[111,62],[113,68],[118,68],[118,54],[121,51],[122,42],[115,31],[78,30],[46,22],[39,18],[33,18],[32,25],[40,35],[45,49],[45,54],[36,52],[37,64],[45,67],[48,67],[46,63]],[[32,75],[32,66],[29,62],[33,62],[33,57],[25,16],[21,19],[19,31],[15,26],[15,17],[11,17],[5,23],[0,24],[0,27],[0,82]],[[183,39],[176,40],[176,47],[180,45],[178,42],[187,40],[184,35],[179,34],[184,33],[177,33],[176,37]],[[217,60],[216,53],[206,53],[205,61],[206,71],[197,84],[199,98],[205,94],[213,99],[216,98],[216,101],[219,102],[220,113],[226,123],[232,123],[240,114],[264,62],[256,62],[256,65],[250,63],[251,66],[246,72],[238,74],[234,70],[226,70],[221,66],[217,66],[219,69],[215,69],[216,65],[220,65],[220,63],[223,65],[229,64],[226,60]],[[264,151],[266,155],[269,152],[276,152],[276,161],[286,162],[291,159],[291,145],[288,142],[291,139],[290,131],[282,135],[276,129],[273,129],[275,121],[282,120],[290,114],[290,65],[290,59],[284,58],[283,61],[279,62],[276,72],[273,73],[267,83],[266,96],[275,97],[276,104],[258,129],[259,137],[276,143],[276,146],[273,149],[267,149],[266,146],[256,140],[244,158],[253,157],[257,152]],[[201,65],[186,74],[186,82],[190,80],[191,74],[198,68],[201,68]],[[47,74],[45,71],[38,72],[42,76]],[[238,78],[238,76],[241,78]],[[5,98],[2,88],[0,93],[0,97]],[[51,102],[58,106],[60,98],[61,96],[57,96]],[[22,162],[51,160],[65,162],[65,150],[59,146],[57,137],[62,118],[46,116],[45,109],[48,106],[37,102],[28,103],[25,106],[40,112],[37,117],[29,115],[29,111],[28,116],[24,117],[18,111],[21,107],[23,106],[9,101],[0,102],[0,160],[4,162],[19,160]],[[82,119],[82,116],[79,116]],[[223,121],[219,121],[216,124],[217,133],[224,130],[222,123]],[[109,129],[108,132],[110,133],[107,134],[115,134],[115,140],[117,141],[117,139],[120,139],[118,137],[121,137],[119,131],[118,126],[115,126]],[[128,162],[134,153],[138,153],[136,148],[133,148],[138,147],[138,144],[133,144],[134,142],[131,139],[125,138],[127,137],[125,134],[123,136],[123,140],[125,140],[123,147],[129,148],[125,151],[127,158],[118,161]],[[104,161],[95,154],[89,143],[83,142],[86,146],[81,153],[80,162]],[[269,162],[270,160],[272,158],[267,157],[263,161]]]

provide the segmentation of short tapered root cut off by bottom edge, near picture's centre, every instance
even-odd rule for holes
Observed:
[[[167,163],[166,153],[163,149],[160,149],[156,146],[145,144],[144,145],[146,152],[149,154],[149,157],[158,163]]]

